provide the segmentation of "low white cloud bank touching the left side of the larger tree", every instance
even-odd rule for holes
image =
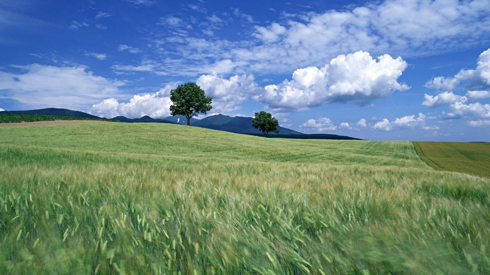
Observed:
[[[153,94],[134,95],[129,102],[119,103],[115,98],[104,99],[94,104],[90,113],[107,118],[123,115],[129,118],[140,118],[148,115],[152,118],[164,118],[170,114],[170,97],[160,90]]]

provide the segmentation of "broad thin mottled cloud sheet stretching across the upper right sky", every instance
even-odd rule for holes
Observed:
[[[236,60],[256,65],[251,69],[286,72],[358,50],[405,57],[458,50],[488,43],[489,5],[488,0],[386,0],[287,14],[284,22],[255,27],[259,45],[232,53]]]

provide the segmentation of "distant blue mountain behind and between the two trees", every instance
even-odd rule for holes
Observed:
[[[220,130],[225,132],[239,133],[239,134],[262,134],[259,130],[252,127],[252,118],[244,116],[228,116],[228,115],[210,115],[201,120],[191,120],[191,126],[197,126],[202,128],[208,128],[213,130]],[[279,134],[283,135],[304,135],[303,133],[284,128],[277,127]],[[276,133],[269,133],[269,135],[277,135]]]

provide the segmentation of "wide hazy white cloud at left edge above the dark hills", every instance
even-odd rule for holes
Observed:
[[[121,96],[125,83],[97,76],[86,66],[54,67],[40,64],[12,66],[22,72],[0,71],[0,90],[26,104],[79,108],[107,97]]]

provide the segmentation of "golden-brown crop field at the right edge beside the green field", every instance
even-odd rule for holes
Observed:
[[[490,143],[414,142],[420,158],[437,170],[490,178]]]

